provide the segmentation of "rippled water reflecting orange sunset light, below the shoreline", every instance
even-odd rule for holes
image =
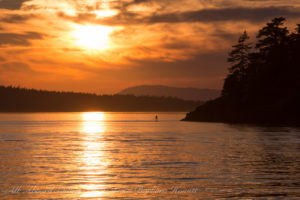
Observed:
[[[300,129],[0,114],[0,199],[300,198]]]

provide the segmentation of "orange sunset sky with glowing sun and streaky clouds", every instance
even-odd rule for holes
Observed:
[[[114,93],[218,88],[246,29],[300,23],[300,0],[0,0],[0,85]]]

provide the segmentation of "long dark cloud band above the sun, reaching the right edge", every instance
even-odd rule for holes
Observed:
[[[155,23],[181,23],[181,22],[216,22],[216,21],[249,21],[262,22],[273,17],[283,16],[288,18],[300,18],[300,8],[293,7],[264,7],[264,8],[223,8],[202,9],[198,11],[172,12],[167,14],[153,14],[142,16],[139,13],[121,10],[111,18],[99,19],[91,13],[79,13],[77,16],[68,16],[58,13],[58,16],[77,23],[99,23],[107,25],[124,24],[155,24]]]

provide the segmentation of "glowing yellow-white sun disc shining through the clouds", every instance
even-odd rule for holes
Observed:
[[[112,28],[108,26],[77,25],[72,36],[75,38],[75,44],[86,50],[105,50],[110,47],[111,32]]]

